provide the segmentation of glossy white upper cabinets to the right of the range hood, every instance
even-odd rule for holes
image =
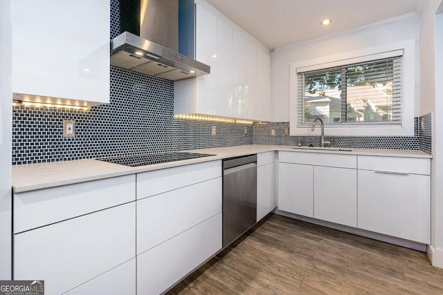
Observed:
[[[210,74],[174,83],[174,113],[269,121],[269,50],[204,0],[196,14],[195,58]]]

